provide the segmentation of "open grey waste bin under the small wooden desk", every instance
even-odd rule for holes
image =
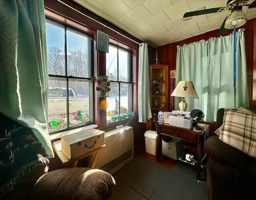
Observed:
[[[183,152],[182,140],[172,137],[162,139],[162,154],[177,160]]]

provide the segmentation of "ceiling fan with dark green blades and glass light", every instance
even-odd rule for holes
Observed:
[[[242,12],[242,6],[248,6],[248,8],[256,8],[256,0],[228,0],[226,7],[186,12],[183,17],[192,17],[202,14],[210,14],[215,12],[222,12],[224,10],[230,10],[231,14],[225,18],[220,27],[220,30],[218,31],[218,34],[221,35],[228,32],[228,29],[238,28],[246,23],[247,19],[245,14]]]

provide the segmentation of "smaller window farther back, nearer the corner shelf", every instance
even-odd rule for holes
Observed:
[[[123,115],[132,110],[132,54],[116,46],[109,46],[106,54],[106,74],[110,80],[110,96],[107,97],[107,122],[113,116]]]

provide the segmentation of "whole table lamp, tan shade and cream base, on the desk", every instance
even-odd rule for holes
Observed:
[[[180,81],[176,88],[173,90],[171,96],[182,97],[183,99],[179,103],[180,110],[186,111],[188,104],[186,103],[185,97],[187,98],[198,98],[196,90],[192,81]]]

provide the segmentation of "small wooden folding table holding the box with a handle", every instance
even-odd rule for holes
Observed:
[[[99,148],[96,148],[86,154],[83,154],[82,156],[79,156],[77,158],[72,158],[72,159],[68,159],[65,154],[62,153],[61,151],[61,140],[57,140],[55,142],[53,142],[52,144],[52,147],[54,149],[54,151],[56,152],[56,154],[58,155],[58,157],[60,158],[62,164],[64,165],[70,165],[71,167],[76,167],[76,164],[78,162],[78,160],[81,160],[82,158],[85,158],[87,156],[90,156],[92,154],[95,153],[95,156],[94,156],[94,159],[93,159],[93,162],[92,162],[92,169],[94,169],[95,165],[96,165],[96,162],[97,162],[97,159],[98,159],[98,152],[100,150],[102,150],[103,148],[106,147],[106,145],[104,144],[103,146],[99,147]]]

